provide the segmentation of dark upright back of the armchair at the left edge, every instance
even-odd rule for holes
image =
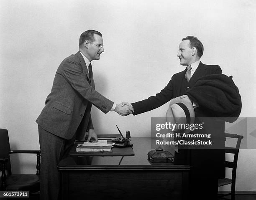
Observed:
[[[8,130],[0,129],[0,158],[8,158],[6,163],[5,170],[7,171],[7,175],[11,175],[11,165],[10,165],[10,143],[8,137]],[[0,171],[2,171],[2,166],[0,165]]]

